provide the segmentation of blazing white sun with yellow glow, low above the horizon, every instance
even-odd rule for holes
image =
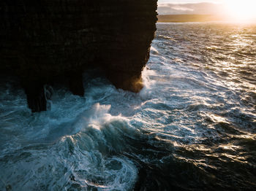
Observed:
[[[256,20],[256,0],[225,0],[227,16],[235,22]]]

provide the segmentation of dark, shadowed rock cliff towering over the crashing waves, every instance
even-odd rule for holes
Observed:
[[[0,69],[20,77],[33,112],[46,110],[43,86],[59,79],[83,95],[91,67],[138,92],[156,10],[157,0],[1,0]]]

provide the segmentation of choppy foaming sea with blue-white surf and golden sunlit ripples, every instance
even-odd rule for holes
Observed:
[[[31,114],[1,78],[0,190],[256,190],[256,26],[157,28],[139,94],[85,74]]]

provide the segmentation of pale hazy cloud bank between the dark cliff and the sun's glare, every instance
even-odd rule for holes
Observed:
[[[221,4],[197,3],[197,4],[159,4],[159,15],[182,15],[182,14],[200,14],[200,15],[219,15],[223,12]]]

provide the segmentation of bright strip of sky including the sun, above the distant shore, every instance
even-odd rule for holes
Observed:
[[[220,15],[256,22],[256,0],[158,0],[159,15]]]

